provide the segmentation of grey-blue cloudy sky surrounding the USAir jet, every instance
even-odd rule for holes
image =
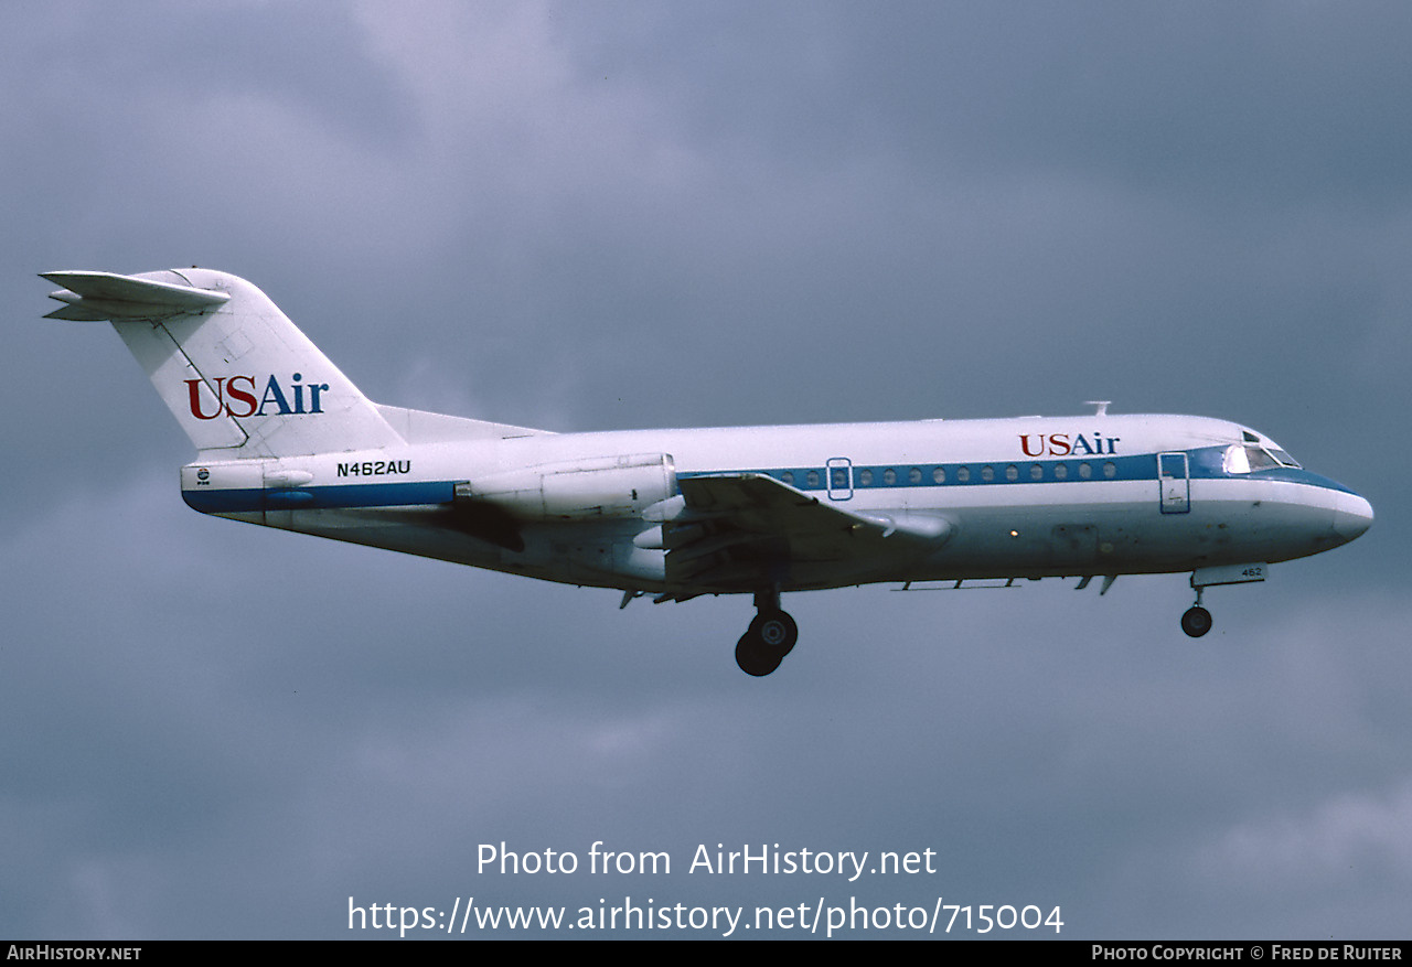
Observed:
[[[1065,937],[1405,939],[1409,38],[1406,4],[1316,0],[6,3],[0,936],[942,896]],[[618,611],[193,514],[185,436],[35,278],[192,264],[380,402],[576,431],[1104,398],[1255,426],[1378,519],[1209,593],[1200,641],[1183,576],[851,589],[786,597],[801,644],[748,679],[743,599]],[[477,871],[597,840],[672,871]],[[936,871],[688,872],[717,843]]]

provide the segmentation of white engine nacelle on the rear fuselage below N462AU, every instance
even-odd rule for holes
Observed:
[[[666,453],[541,463],[456,484],[456,500],[486,501],[521,519],[640,517],[675,493]]]

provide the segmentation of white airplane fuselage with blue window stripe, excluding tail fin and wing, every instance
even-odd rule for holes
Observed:
[[[1231,469],[1231,448],[1278,448],[1237,424],[1196,416],[465,440],[455,439],[453,425],[438,425],[422,436],[428,439],[408,433],[412,442],[405,446],[376,452],[198,462],[184,470],[184,494],[198,510],[256,524],[548,580],[675,596],[753,591],[760,583],[747,575],[693,584],[674,576],[661,541],[642,541],[662,519],[652,510],[658,501],[676,493],[681,480],[699,476],[768,476],[799,491],[801,500],[898,522],[895,538],[860,545],[858,553],[839,553],[836,545],[818,553],[782,545],[774,572],[779,590],[1276,562],[1344,543],[1372,517],[1351,490],[1292,462],[1258,470],[1237,462]],[[633,469],[634,459],[641,470]],[[614,469],[620,464],[621,472]],[[613,487],[623,490],[620,497],[599,493]],[[497,541],[494,531],[487,539],[484,527],[462,525],[457,508],[467,500],[493,507],[514,539]],[[909,529],[918,521],[935,527],[919,536],[918,528]]]

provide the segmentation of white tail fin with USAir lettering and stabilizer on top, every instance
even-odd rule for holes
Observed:
[[[52,319],[109,319],[198,450],[297,456],[402,438],[250,282],[203,268],[45,272]]]

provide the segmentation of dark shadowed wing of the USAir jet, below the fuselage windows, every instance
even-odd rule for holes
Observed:
[[[935,549],[942,517],[860,514],[762,473],[678,479],[682,510],[662,525],[666,597],[854,583],[897,552]]]

